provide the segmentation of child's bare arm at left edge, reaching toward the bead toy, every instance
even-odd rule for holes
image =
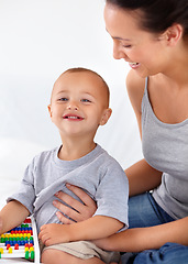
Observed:
[[[0,211],[0,234],[22,223],[29,215],[29,210],[19,201],[8,202]]]

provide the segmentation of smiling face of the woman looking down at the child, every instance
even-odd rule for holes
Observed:
[[[113,40],[113,57],[146,77],[163,72],[167,59],[163,35],[142,30],[139,13],[106,3],[106,29]]]

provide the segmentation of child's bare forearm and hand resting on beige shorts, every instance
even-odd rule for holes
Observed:
[[[38,238],[45,245],[80,240],[107,238],[123,227],[119,220],[110,217],[95,216],[73,224],[49,223],[41,228]]]

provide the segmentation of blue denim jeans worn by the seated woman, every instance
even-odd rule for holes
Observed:
[[[130,228],[144,228],[174,221],[153,199],[150,193],[129,200]],[[158,250],[124,253],[122,264],[188,264],[188,246],[166,243]]]

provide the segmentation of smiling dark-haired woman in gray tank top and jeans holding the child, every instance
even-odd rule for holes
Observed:
[[[125,170],[130,229],[97,243],[135,252],[129,255],[131,263],[188,263],[188,1],[107,0],[104,21],[114,58],[132,68],[126,88],[144,160]],[[85,206],[58,194],[76,211],[56,207],[81,221],[96,205],[80,189],[69,188]],[[122,263],[125,258],[128,254]]]

